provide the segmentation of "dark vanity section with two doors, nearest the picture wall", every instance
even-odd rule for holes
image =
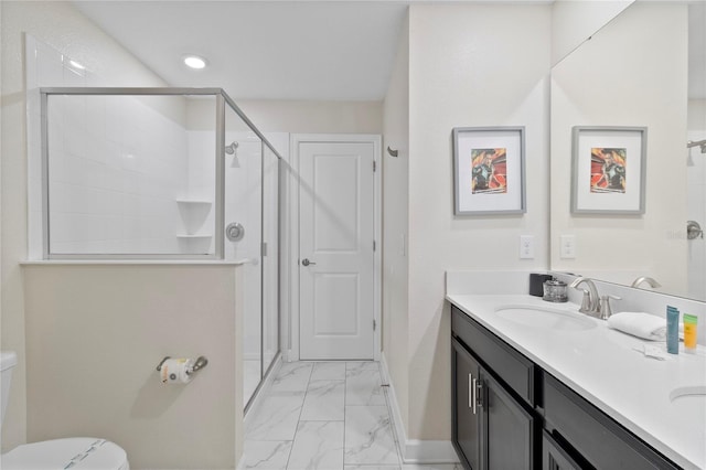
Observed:
[[[463,466],[534,469],[536,417],[523,399],[534,397],[533,364],[456,309],[452,330],[452,440]],[[491,372],[495,367],[509,375]]]

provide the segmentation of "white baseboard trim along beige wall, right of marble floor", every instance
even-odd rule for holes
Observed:
[[[395,386],[389,380],[389,370],[387,368],[387,360],[385,352],[381,354],[381,373],[383,374],[383,383],[388,384],[385,387],[385,396],[387,398],[387,409],[393,420],[393,430],[395,440],[399,446],[399,453],[404,463],[458,463],[459,458],[453,449],[450,440],[419,440],[408,439],[407,431],[402,420],[399,404],[395,395]]]

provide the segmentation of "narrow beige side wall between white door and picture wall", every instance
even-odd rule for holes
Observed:
[[[405,20],[384,102],[383,355],[405,431],[408,414],[409,18]]]

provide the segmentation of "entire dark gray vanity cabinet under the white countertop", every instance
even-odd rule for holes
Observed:
[[[452,440],[472,470],[676,470],[606,413],[451,306]]]

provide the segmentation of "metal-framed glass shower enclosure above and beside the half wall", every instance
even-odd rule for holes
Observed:
[[[44,259],[242,264],[246,407],[279,354],[280,153],[221,88],[39,93],[30,244]]]

